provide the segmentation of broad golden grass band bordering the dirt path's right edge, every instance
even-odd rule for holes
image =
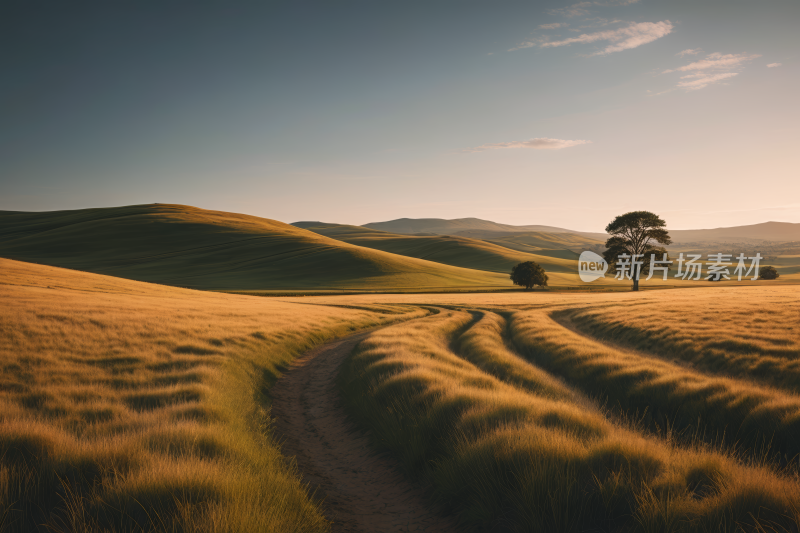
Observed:
[[[340,376],[356,422],[466,527],[800,525],[795,477],[701,442],[679,446],[613,422],[578,391],[511,353],[503,330],[490,313],[473,324],[468,313],[445,311],[372,334]]]

